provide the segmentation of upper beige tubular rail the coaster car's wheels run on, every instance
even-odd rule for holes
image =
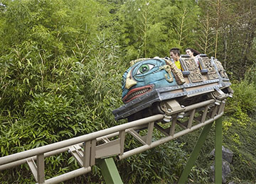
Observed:
[[[204,105],[208,105],[211,103],[214,103],[215,100],[206,100],[201,103],[188,105],[185,107],[184,112],[188,112],[190,110],[193,110],[195,108],[201,108]],[[159,117],[156,117],[159,116]],[[154,119],[156,117],[156,119]],[[152,118],[152,119],[151,119]],[[154,122],[157,120],[161,120],[163,118],[163,115],[154,115],[151,117],[146,117],[141,120],[136,120],[133,122],[128,122],[123,125],[117,125],[115,127],[110,127],[106,130],[100,130],[98,132],[92,132],[90,134],[85,134],[80,137],[75,137],[72,139],[68,139],[62,142],[56,142],[53,144],[48,144],[46,146],[41,146],[36,149],[31,149],[28,151],[22,151],[17,154],[12,154],[9,156],[4,156],[0,158],[0,171],[11,168],[14,166],[21,165],[23,163],[26,163],[26,159],[33,157],[33,159],[36,159],[36,155],[38,154],[44,154],[45,157],[53,156],[55,154],[63,153],[64,151],[68,151],[69,146],[72,146],[74,144],[79,144],[82,146],[81,142],[85,142],[87,140],[97,139],[100,140],[102,137],[114,137],[119,134],[119,131],[125,130],[125,132],[129,132],[127,129],[134,129],[134,126],[144,125],[148,123],[149,121]]]

